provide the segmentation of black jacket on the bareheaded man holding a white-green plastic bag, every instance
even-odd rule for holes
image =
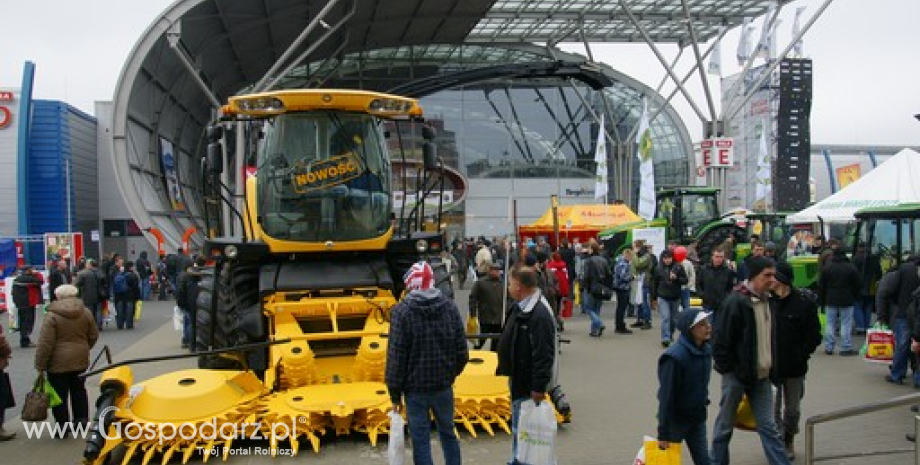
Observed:
[[[529,308],[515,303],[498,341],[496,374],[511,378],[511,399],[547,392],[553,380],[556,355],[556,320],[542,295]],[[529,302],[529,300],[528,300]]]

